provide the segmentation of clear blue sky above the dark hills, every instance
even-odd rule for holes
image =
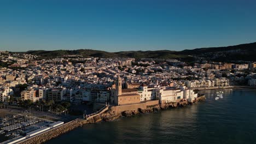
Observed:
[[[256,41],[250,0],[1,0],[0,50],[184,50]]]

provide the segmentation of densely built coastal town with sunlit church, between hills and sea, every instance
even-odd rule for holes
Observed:
[[[0,142],[17,143],[77,118],[91,123],[192,104],[203,96],[198,89],[256,86],[255,62],[197,59],[0,51]]]

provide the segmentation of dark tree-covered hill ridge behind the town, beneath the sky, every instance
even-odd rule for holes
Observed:
[[[226,47],[209,47],[194,50],[171,51],[120,51],[107,52],[99,50],[54,50],[54,51],[27,51],[32,55],[43,57],[61,57],[65,55],[83,55],[84,57],[134,57],[134,58],[178,58],[186,59],[191,56],[202,57],[212,61],[256,61],[256,43],[241,44]]]

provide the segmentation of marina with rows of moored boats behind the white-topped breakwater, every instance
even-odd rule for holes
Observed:
[[[16,143],[61,124],[27,115],[7,115],[0,121],[0,143]]]

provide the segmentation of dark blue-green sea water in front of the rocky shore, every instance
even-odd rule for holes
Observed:
[[[256,91],[201,93],[195,105],[84,125],[47,143],[256,143]]]

